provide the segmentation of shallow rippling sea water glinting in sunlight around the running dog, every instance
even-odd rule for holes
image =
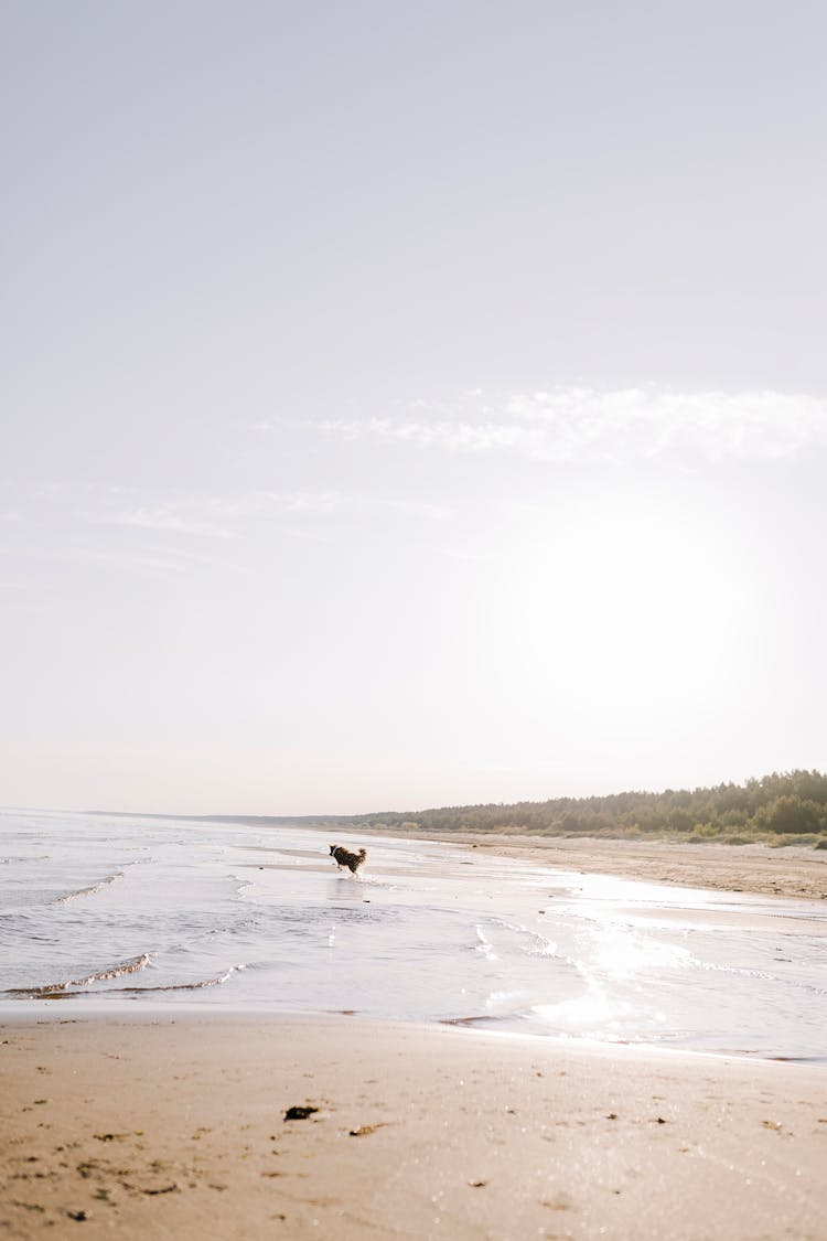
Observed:
[[[822,902],[428,841],[367,840],[353,879],[329,839],[0,812],[0,1010],[353,1011],[827,1062]]]

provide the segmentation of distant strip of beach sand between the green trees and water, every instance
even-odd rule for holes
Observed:
[[[418,839],[425,839],[425,835],[418,835]],[[579,870],[588,875],[620,875],[684,887],[827,900],[827,849],[489,833],[445,833],[428,839],[454,841],[501,858],[517,858],[541,866]]]

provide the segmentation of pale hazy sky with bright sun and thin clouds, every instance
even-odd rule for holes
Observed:
[[[825,769],[826,43],[2,0],[0,804]]]

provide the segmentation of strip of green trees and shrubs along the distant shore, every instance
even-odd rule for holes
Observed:
[[[310,820],[304,820],[309,823]],[[408,835],[491,831],[553,836],[632,836],[718,840],[744,845],[827,848],[827,776],[817,771],[774,772],[745,784],[562,797],[516,805],[461,805],[314,819]]]

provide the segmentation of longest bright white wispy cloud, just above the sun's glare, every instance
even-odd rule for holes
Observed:
[[[779,460],[827,448],[827,398],[803,393],[568,387],[493,401],[475,390],[453,408],[414,405],[396,417],[317,426],[350,441],[549,462]]]

